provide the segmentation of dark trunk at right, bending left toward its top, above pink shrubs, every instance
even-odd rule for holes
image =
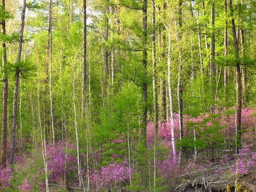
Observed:
[[[239,148],[241,147],[241,116],[242,116],[242,87],[241,87],[241,72],[240,72],[240,63],[239,63],[239,49],[238,49],[238,42],[236,38],[236,26],[235,21],[233,18],[233,5],[232,0],[229,0],[229,9],[231,14],[231,26],[232,26],[232,33],[234,39],[234,47],[235,47],[235,57],[236,57],[236,102],[237,102],[237,118],[236,118],[236,127],[237,127],[237,150],[238,153]]]

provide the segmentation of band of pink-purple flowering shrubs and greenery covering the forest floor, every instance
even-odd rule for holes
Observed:
[[[161,178],[156,181],[161,183],[158,186],[174,186],[175,182],[181,181],[181,178],[197,177],[204,174],[206,170],[213,170],[215,177],[224,173],[224,170],[226,170],[226,174],[233,175],[254,170],[256,163],[256,118],[253,114],[254,111],[250,108],[242,111],[243,145],[237,156],[229,155],[229,153],[234,154],[235,151],[234,114],[216,113],[213,116],[207,114],[200,114],[198,117],[183,116],[184,135],[181,142],[179,141],[179,115],[174,114],[176,158],[173,157],[171,121],[159,123],[156,139],[154,139],[154,124],[149,123],[147,125],[147,149],[143,149],[142,155],[138,153],[141,150],[139,143],[132,138],[138,137],[136,130],[130,130],[130,134],[135,136],[129,136],[129,146],[126,132],[115,134],[116,138],[111,141],[102,141],[108,144],[104,145],[109,147],[107,153],[104,148],[100,147],[103,146],[101,143],[95,142],[94,147],[90,145],[88,148],[88,171],[85,166],[87,163],[86,151],[81,151],[80,154],[83,186],[89,181],[90,189],[95,191],[121,190],[121,188],[127,190],[143,189],[145,184],[142,183],[141,178],[145,179],[146,175],[149,175],[149,178],[145,180],[148,179],[153,185],[154,166],[156,178]],[[155,146],[154,141],[156,141]],[[182,158],[179,163],[180,146],[182,147]],[[195,146],[196,159],[194,156]],[[154,147],[156,149],[155,165]],[[122,151],[122,153],[118,153],[118,151]],[[102,159],[105,156],[108,156],[110,161]],[[47,143],[46,162],[50,189],[53,185],[59,186],[62,190],[69,189],[69,187],[81,187],[78,182],[79,175],[74,142]],[[229,167],[228,171],[225,167]],[[13,166],[9,166],[7,163],[6,167],[0,169],[2,190],[45,191],[45,179],[41,146],[31,148],[26,153],[16,154]],[[144,182],[146,182],[145,180]]]

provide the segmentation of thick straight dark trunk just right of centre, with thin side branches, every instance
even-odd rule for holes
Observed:
[[[147,0],[142,1],[142,27],[143,27],[143,37],[142,37],[142,45],[143,45],[143,53],[142,53],[142,66],[143,71],[145,74],[145,79],[142,84],[142,140],[145,142],[146,145],[146,133],[147,133],[147,98],[148,98],[148,92],[147,92]]]

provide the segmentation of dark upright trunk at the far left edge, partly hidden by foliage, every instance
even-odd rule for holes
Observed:
[[[2,10],[5,10],[5,0],[2,0]],[[2,34],[5,35],[5,20],[2,20]],[[6,43],[3,42],[2,62],[3,67],[6,65]],[[7,100],[8,100],[8,78],[4,72],[3,78],[3,115],[2,115],[2,139],[1,139],[1,161],[0,167],[5,167],[6,163],[6,129],[7,129]]]

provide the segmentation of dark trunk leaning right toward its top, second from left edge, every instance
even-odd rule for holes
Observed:
[[[17,62],[20,61],[20,57],[21,57],[25,11],[26,11],[26,0],[23,0]],[[17,120],[17,99],[18,99],[19,75],[20,75],[20,69],[16,69],[14,92],[13,92],[13,105],[12,105],[12,132],[11,132],[10,154],[9,154],[9,164],[10,165],[13,164],[14,149],[15,149],[15,132],[16,132],[16,120]]]

